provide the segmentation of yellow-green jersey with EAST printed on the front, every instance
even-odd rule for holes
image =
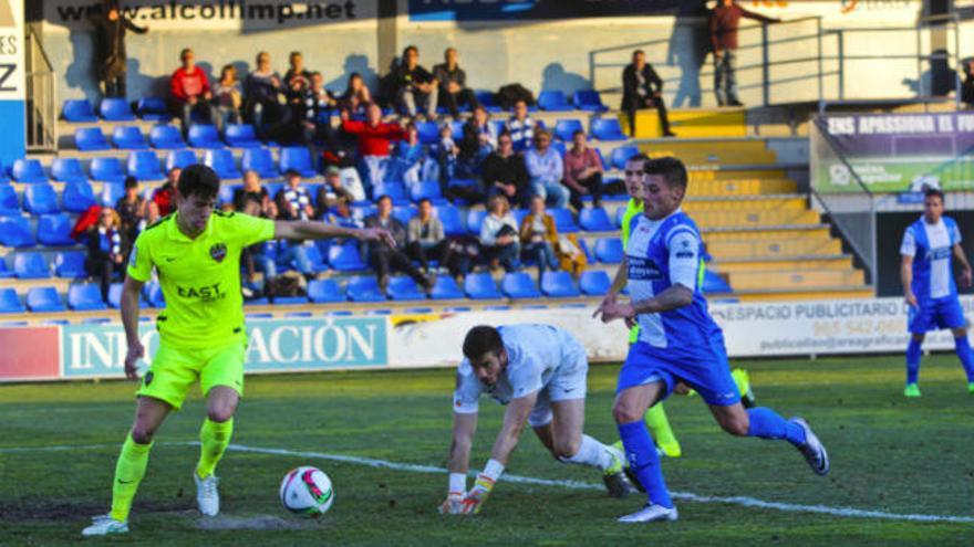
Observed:
[[[147,282],[155,269],[166,299],[156,328],[164,343],[184,348],[217,347],[244,329],[240,252],[274,236],[273,221],[214,212],[196,239],[179,231],[173,213],[135,240],[128,276]]]

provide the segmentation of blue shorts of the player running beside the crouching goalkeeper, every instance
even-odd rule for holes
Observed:
[[[615,392],[654,381],[665,385],[662,399],[670,396],[676,382],[683,381],[695,389],[707,404],[729,407],[740,401],[737,385],[731,376],[723,337],[714,339],[709,348],[692,354],[674,353],[644,341],[633,344],[619,371]]]

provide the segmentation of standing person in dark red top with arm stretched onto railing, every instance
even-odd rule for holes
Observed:
[[[711,46],[714,51],[714,91],[718,106],[744,106],[737,98],[737,27],[740,18],[754,19],[766,23],[777,23],[774,19],[747,11],[735,0],[717,0],[717,7],[711,12],[707,29],[711,33]]]

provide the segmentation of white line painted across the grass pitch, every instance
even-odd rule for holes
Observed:
[[[162,442],[157,443],[162,446],[199,446],[198,441],[186,442]],[[117,450],[118,444],[79,444],[79,445],[52,445],[52,446],[22,446],[22,448],[0,448],[0,454],[24,453],[24,452],[62,452],[76,450]],[[360,457],[343,454],[329,454],[325,452],[286,450],[286,449],[265,449],[259,446],[246,446],[242,444],[230,444],[227,450],[232,452],[245,452],[251,454],[282,455],[310,457],[314,460],[325,460],[331,462],[351,463],[355,465],[367,465],[370,467],[388,469],[393,471],[407,471],[410,473],[433,473],[446,474],[447,470],[435,467],[433,465],[418,465],[414,463],[390,462],[386,460],[377,460],[374,457]],[[517,484],[533,484],[539,486],[557,486],[571,490],[592,490],[601,491],[603,486],[600,484],[583,483],[580,481],[555,481],[550,478],[537,478],[532,476],[520,476],[505,474],[501,481]],[[974,517],[954,516],[954,515],[923,515],[923,514],[903,514],[887,513],[883,511],[856,509],[851,507],[830,507],[828,505],[801,505],[779,502],[765,502],[747,496],[702,496],[690,492],[671,492],[670,495],[674,499],[685,499],[696,503],[721,503],[729,505],[740,505],[744,507],[757,507],[761,509],[775,509],[786,513],[816,513],[820,515],[831,515],[839,517],[852,518],[878,518],[885,520],[908,520],[914,523],[974,523]]]

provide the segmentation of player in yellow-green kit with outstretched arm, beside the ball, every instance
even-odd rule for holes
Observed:
[[[112,508],[93,518],[84,536],[128,532],[128,512],[148,464],[153,436],[189,387],[199,381],[207,417],[199,430],[201,450],[193,471],[200,513],[219,513],[217,462],[230,442],[234,414],[244,395],[247,333],[240,293],[240,252],[271,239],[358,238],[384,240],[383,230],[352,230],[320,222],[274,222],[214,211],[219,178],[213,169],[187,167],[177,183],[176,212],[147,228],[135,241],[122,291],[122,323],[128,341],[125,376],[138,379],[145,354],[138,339],[138,295],[158,273],[166,308],[156,328],[159,348],[137,391],[135,421],[122,445],[112,487]]]

